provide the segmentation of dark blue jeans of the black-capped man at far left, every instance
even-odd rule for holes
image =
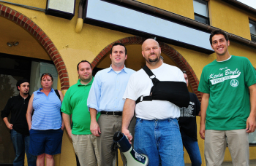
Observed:
[[[11,130],[12,144],[15,150],[15,159],[13,160],[13,166],[24,165],[25,151],[28,159],[29,166],[37,165],[37,157],[29,154],[29,135],[23,135]]]

